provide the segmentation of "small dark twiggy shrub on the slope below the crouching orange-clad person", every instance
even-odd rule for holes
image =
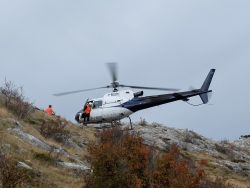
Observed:
[[[45,138],[53,138],[58,142],[66,143],[70,137],[70,132],[65,127],[65,123],[59,119],[49,119],[40,126],[40,133]]]

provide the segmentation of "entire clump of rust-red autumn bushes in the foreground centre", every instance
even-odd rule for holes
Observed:
[[[93,173],[85,187],[198,187],[204,171],[182,159],[177,146],[155,156],[137,133],[119,127],[99,133],[89,146]]]

